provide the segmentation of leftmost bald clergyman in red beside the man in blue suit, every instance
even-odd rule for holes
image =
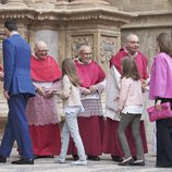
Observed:
[[[57,111],[53,91],[60,88],[61,70],[54,58],[48,56],[45,41],[37,41],[30,61],[32,79],[36,97],[26,108],[35,158],[53,157],[60,153],[60,114]]]

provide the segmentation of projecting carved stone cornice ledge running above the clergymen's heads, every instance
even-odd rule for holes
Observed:
[[[93,8],[93,9],[73,9],[73,10],[38,10],[32,8],[16,9],[14,7],[0,5],[0,19],[28,19],[34,21],[50,20],[56,22],[90,21],[102,20],[110,22],[120,22],[121,25],[130,22],[135,14],[120,12],[118,10]]]

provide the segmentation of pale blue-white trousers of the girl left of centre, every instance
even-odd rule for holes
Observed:
[[[85,149],[78,132],[77,114],[74,112],[65,113],[65,122],[62,128],[62,148],[60,153],[60,158],[62,159],[65,159],[66,157],[66,151],[70,143],[70,134],[75,143],[75,147],[77,148],[79,160],[86,160]]]

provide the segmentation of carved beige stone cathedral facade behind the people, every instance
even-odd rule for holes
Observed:
[[[19,32],[32,49],[37,40],[45,40],[59,63],[66,57],[75,58],[81,44],[90,45],[95,60],[108,75],[109,58],[128,33],[138,35],[140,51],[149,58],[150,67],[157,35],[165,32],[172,36],[172,0],[1,0],[0,33],[7,19],[17,20]],[[0,35],[0,62],[2,40]],[[0,90],[2,128],[8,110],[2,82]],[[150,126],[149,122],[147,125]],[[152,132],[147,128],[147,133]]]

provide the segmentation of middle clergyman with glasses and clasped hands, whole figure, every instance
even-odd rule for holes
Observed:
[[[78,49],[78,60],[75,61],[81,78],[82,103],[85,109],[78,116],[78,127],[85,151],[89,160],[100,160],[102,153],[103,114],[101,94],[106,86],[106,74],[93,61],[91,48],[82,45]],[[76,149],[70,146],[70,153],[75,155]]]

